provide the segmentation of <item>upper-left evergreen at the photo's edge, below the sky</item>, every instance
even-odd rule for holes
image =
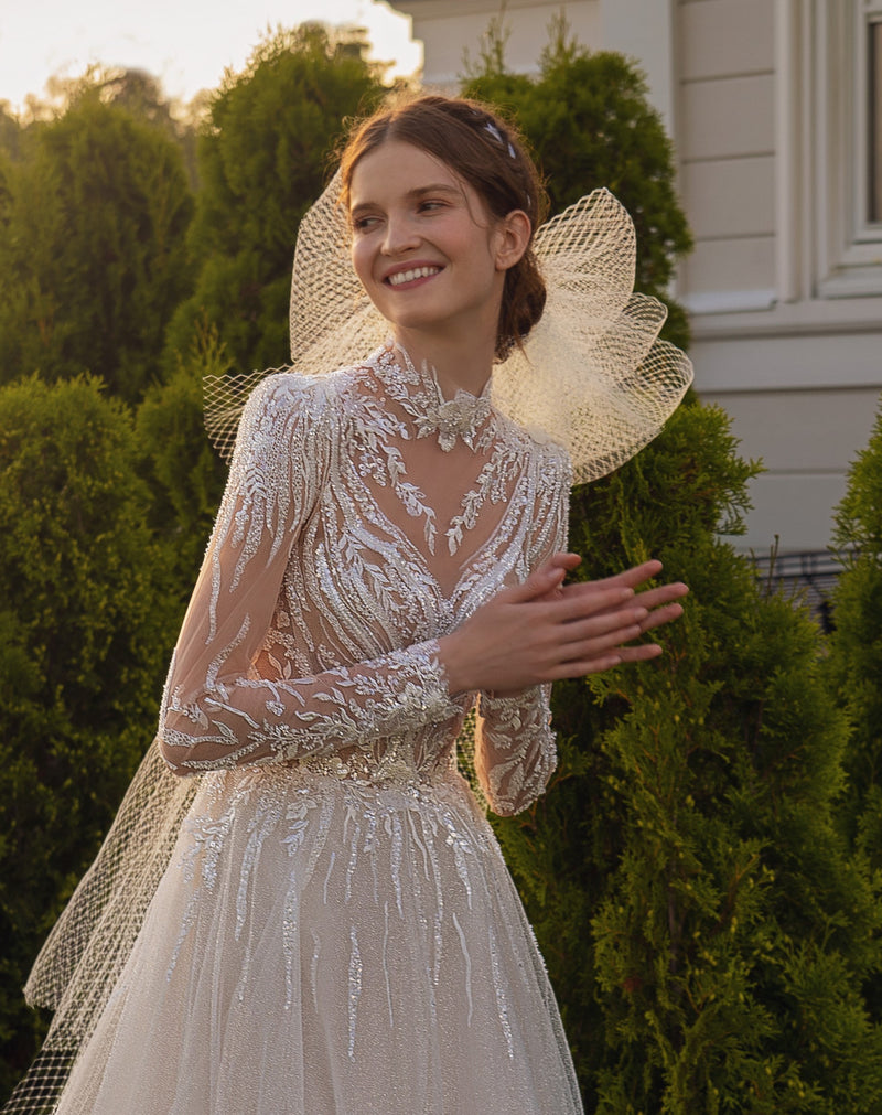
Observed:
[[[97,88],[20,140],[2,175],[0,381],[89,371],[137,399],[190,285],[177,144]]]

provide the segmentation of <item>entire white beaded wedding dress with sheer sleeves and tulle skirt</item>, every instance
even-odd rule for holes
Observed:
[[[194,793],[57,1112],[582,1111],[435,642],[564,546],[569,488],[394,347],[256,388],[154,745],[191,777],[148,760]],[[477,695],[496,812],[542,793],[549,720],[546,688]]]

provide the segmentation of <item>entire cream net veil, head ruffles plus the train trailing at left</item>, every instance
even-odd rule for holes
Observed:
[[[389,331],[352,271],[338,198],[335,178],[301,223],[294,256],[291,359],[310,375],[358,363]],[[691,381],[691,365],[658,340],[665,307],[633,293],[633,224],[610,193],[595,191],[549,221],[534,250],[546,308],[523,349],[495,368],[492,397],[520,425],[564,445],[575,481],[584,483],[659,433]],[[265,375],[206,378],[206,429],[224,456],[244,400]],[[54,1109],[132,951],[196,784],[176,778],[155,745],[149,749],[33,966],[28,1001],[55,1010],[55,1018],[6,1112]]]

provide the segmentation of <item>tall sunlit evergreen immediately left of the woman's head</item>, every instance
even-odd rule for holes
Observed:
[[[202,188],[190,246],[195,293],[175,316],[171,362],[204,316],[238,370],[289,360],[291,260],[347,116],[384,91],[360,54],[317,25],[279,31],[229,75],[198,146]]]

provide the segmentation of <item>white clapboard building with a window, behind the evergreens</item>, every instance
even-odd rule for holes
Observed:
[[[445,88],[500,14],[391,7]],[[535,71],[562,9],[580,42],[637,61],[673,138],[696,386],[767,468],[743,544],[824,551],[882,389],[882,0],[508,0],[511,69]]]

